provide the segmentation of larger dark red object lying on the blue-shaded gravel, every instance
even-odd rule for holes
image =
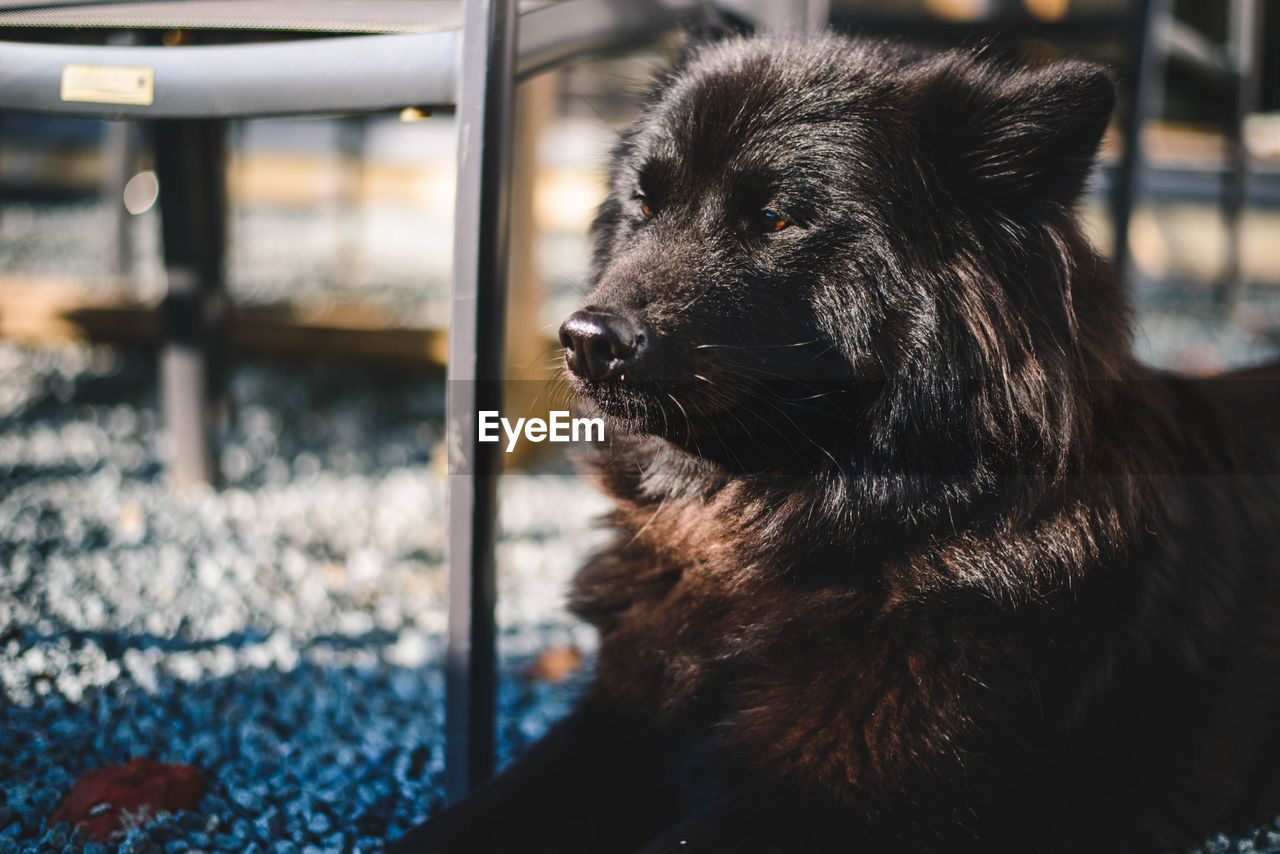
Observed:
[[[191,809],[202,794],[205,775],[198,768],[136,757],[82,773],[50,821],[70,822],[105,842],[123,828],[125,813],[143,818]]]

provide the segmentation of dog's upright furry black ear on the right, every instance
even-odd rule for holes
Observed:
[[[1115,109],[1106,69],[1062,61],[1009,72],[951,55],[919,72],[915,123],[961,204],[1007,215],[1076,201]]]

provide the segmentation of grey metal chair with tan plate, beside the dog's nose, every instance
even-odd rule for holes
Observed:
[[[500,405],[515,85],[576,56],[643,42],[701,0],[0,0],[0,110],[154,127],[168,293],[161,401],[170,478],[215,479],[221,383],[225,120],[456,109],[457,224],[448,364],[451,799],[493,771],[497,446],[476,412]],[[777,24],[822,0],[737,0]],[[161,37],[169,33],[169,38]],[[195,33],[201,44],[188,44]],[[166,45],[166,41],[169,42]],[[115,141],[128,145],[125,138]],[[119,183],[118,181],[114,183]]]

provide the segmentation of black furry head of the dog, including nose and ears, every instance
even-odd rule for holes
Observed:
[[[887,470],[1061,435],[1097,343],[1080,325],[1124,316],[1071,292],[1112,101],[1083,63],[835,36],[694,51],[617,149],[594,289],[561,328],[571,383],[724,462]]]

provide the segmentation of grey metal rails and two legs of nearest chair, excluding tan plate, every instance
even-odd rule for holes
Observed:
[[[465,0],[461,32],[183,47],[140,47],[128,38],[106,46],[0,41],[0,109],[159,119],[155,147],[169,283],[160,364],[170,476],[178,484],[216,478],[212,437],[223,408],[216,373],[225,353],[224,120],[457,105],[447,412],[449,799],[488,777],[494,763],[500,461],[497,446],[476,442],[475,420],[479,410],[502,402],[515,81],[582,54],[652,40],[701,5],[566,0],[517,14],[517,0]],[[68,64],[154,69],[154,100],[146,106],[63,101]]]

